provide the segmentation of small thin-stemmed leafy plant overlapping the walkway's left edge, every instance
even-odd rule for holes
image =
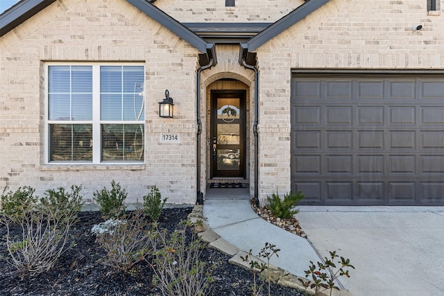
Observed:
[[[246,256],[241,256],[241,260],[244,262],[247,262],[248,265],[250,265],[251,270],[253,271],[253,295],[258,295],[261,290],[262,286],[264,285],[264,282],[262,282],[261,285],[257,286],[256,284],[256,274],[257,272],[263,272],[264,270],[270,268],[270,259],[274,255],[278,257],[278,252],[280,249],[276,248],[275,245],[271,243],[265,243],[264,247],[259,251],[258,257],[266,259],[266,263],[258,262],[255,260],[255,257],[253,254],[248,252]],[[268,283],[268,296],[271,296],[271,275],[268,273],[266,276],[266,281]],[[258,287],[258,288],[257,288]]]

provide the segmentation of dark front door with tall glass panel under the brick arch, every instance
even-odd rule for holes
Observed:
[[[212,91],[212,178],[245,177],[246,91]]]

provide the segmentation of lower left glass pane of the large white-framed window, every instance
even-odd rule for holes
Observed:
[[[49,128],[49,137],[50,161],[92,161],[92,125],[53,124]]]

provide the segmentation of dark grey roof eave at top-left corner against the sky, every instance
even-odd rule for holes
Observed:
[[[56,0],[22,0],[0,15],[0,37]]]

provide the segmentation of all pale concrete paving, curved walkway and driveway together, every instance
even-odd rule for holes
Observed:
[[[309,261],[336,250],[355,265],[339,283],[352,295],[444,295],[444,207],[300,207],[307,240],[257,216],[249,198],[248,189],[210,189],[205,197],[206,223],[232,254],[272,243],[280,252],[271,263],[304,277]]]

